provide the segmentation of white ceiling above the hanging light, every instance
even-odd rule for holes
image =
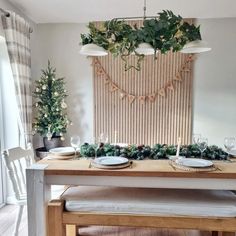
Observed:
[[[36,23],[77,23],[142,16],[144,0],[9,0]],[[147,15],[163,9],[185,18],[236,17],[235,0],[147,0]]]

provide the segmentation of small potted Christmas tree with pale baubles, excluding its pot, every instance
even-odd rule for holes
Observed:
[[[47,69],[42,70],[41,78],[35,83],[35,132],[48,137],[49,140],[56,136],[61,136],[61,140],[64,140],[63,134],[71,124],[66,114],[67,91],[64,78],[56,78],[56,69],[48,61]]]

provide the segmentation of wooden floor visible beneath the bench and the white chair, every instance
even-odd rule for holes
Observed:
[[[17,206],[7,205],[0,209],[0,236],[12,236]],[[27,213],[24,210],[19,236],[27,236]],[[80,229],[81,236],[210,236],[197,230],[166,230],[150,228],[90,226]]]

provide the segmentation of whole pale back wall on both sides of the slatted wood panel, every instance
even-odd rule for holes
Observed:
[[[194,70],[194,133],[222,146],[225,136],[236,136],[236,18],[200,20],[203,39],[212,51],[201,54]],[[93,133],[93,88],[91,61],[80,55],[80,33],[84,24],[39,24],[34,79],[47,59],[65,76],[69,91],[69,115],[74,125],[68,136],[78,133],[82,141]]]

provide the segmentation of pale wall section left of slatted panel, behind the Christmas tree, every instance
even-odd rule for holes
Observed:
[[[68,115],[73,124],[67,137],[78,134],[81,141],[93,135],[93,88],[91,59],[79,54],[80,34],[84,24],[39,24],[37,27],[36,67],[33,79],[38,80],[47,60],[57,69],[58,77],[65,77],[68,90]],[[67,138],[68,141],[69,138]],[[41,146],[35,137],[36,146]]]

